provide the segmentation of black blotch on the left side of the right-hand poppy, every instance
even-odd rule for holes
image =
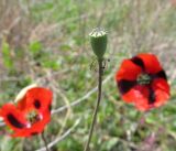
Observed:
[[[133,86],[135,86],[135,80],[121,79],[120,82],[118,82],[118,87],[120,93],[123,95],[128,93]]]

